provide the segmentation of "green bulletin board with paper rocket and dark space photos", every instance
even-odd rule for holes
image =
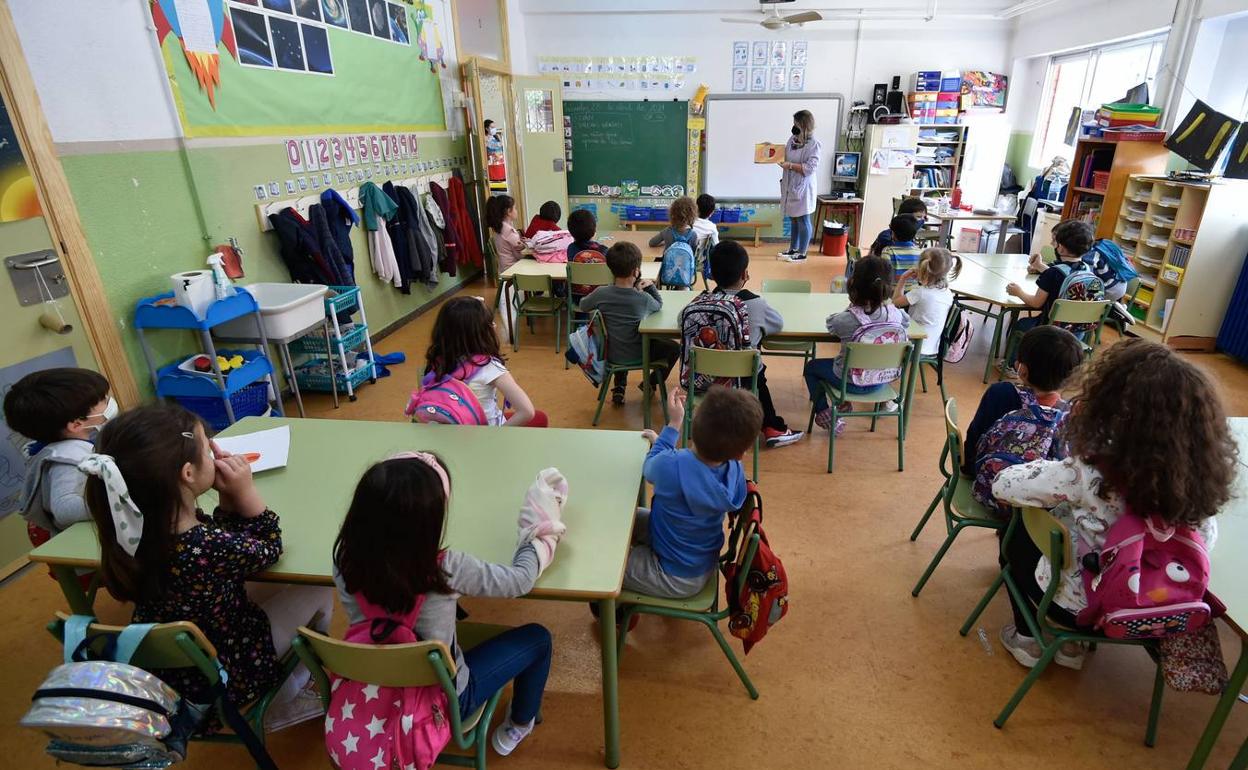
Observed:
[[[427,2],[152,0],[187,136],[446,127]]]

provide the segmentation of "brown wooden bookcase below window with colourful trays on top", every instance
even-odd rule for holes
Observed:
[[[1096,228],[1096,237],[1113,235],[1116,220],[1102,211],[1119,211],[1127,177],[1133,173],[1164,173],[1169,150],[1161,142],[1111,142],[1081,139],[1071,162],[1071,185],[1062,207],[1063,220],[1082,220]],[[1097,181],[1103,183],[1097,183]]]

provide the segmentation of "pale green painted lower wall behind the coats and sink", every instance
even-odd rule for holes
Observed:
[[[419,157],[436,160],[463,154],[462,141],[427,139],[421,144]],[[188,165],[175,151],[62,157],[130,366],[146,393],[151,392],[151,381],[137,337],[130,328],[136,301],[168,291],[172,273],[202,270],[210,247],[230,236],[238,240],[245,252],[247,276],[240,283],[290,281],[277,256],[277,236],[260,231],[253,192],[256,185],[271,180],[285,185],[291,176],[283,147],[275,140],[266,145],[193,149],[187,155]],[[192,190],[198,191],[208,238],[200,228]],[[454,290],[466,278],[443,276],[437,292],[413,287],[411,295],[399,295],[372,275],[359,228],[352,231],[352,246],[356,278],[363,288],[374,333]],[[158,364],[197,349],[188,333],[155,332],[149,339],[157,351]]]

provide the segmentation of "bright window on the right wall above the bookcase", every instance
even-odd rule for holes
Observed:
[[[1050,59],[1031,144],[1031,165],[1042,168],[1056,155],[1075,157],[1075,145],[1066,144],[1075,107],[1094,110],[1121,99],[1141,82],[1147,82],[1152,92],[1164,45],[1162,32]]]

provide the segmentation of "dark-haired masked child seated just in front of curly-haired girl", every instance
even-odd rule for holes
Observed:
[[[1083,348],[1066,329],[1037,326],[1023,334],[1018,343],[1018,379],[1022,386],[996,382],[980,397],[980,407],[962,442],[962,474],[975,478],[980,439],[998,419],[1022,408],[1023,391],[1031,396],[1028,401],[1055,407],[1061,402],[1062,386],[1081,363]]]

